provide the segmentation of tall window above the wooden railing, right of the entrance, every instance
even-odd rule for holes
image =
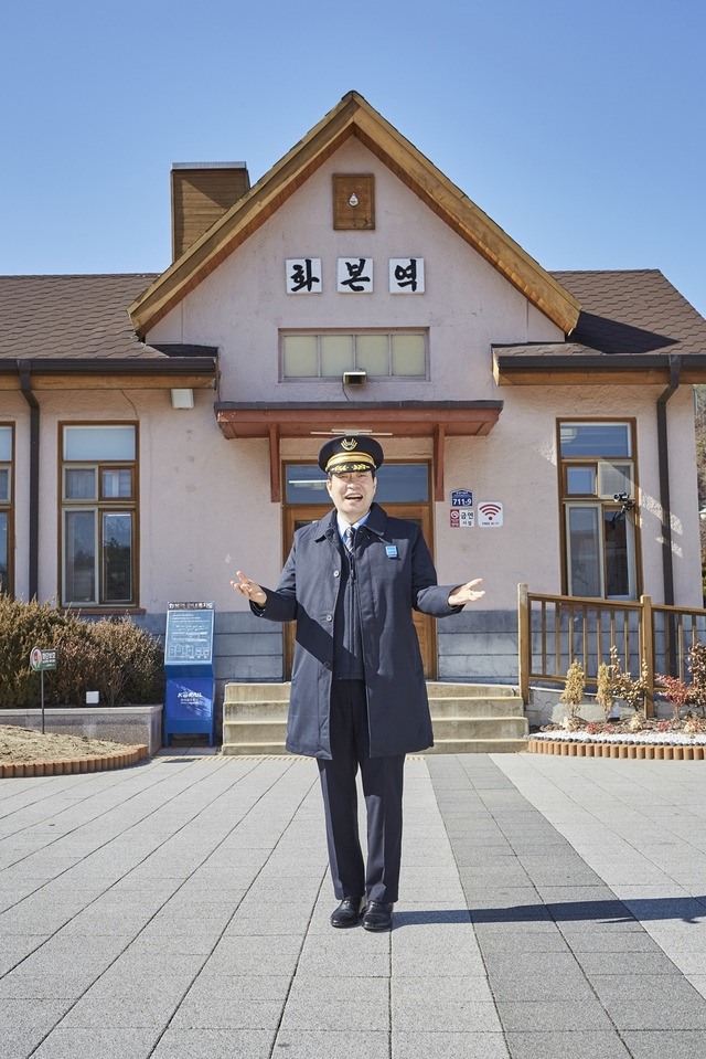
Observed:
[[[630,423],[559,423],[568,595],[638,595]]]

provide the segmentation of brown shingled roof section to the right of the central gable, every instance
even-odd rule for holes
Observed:
[[[706,319],[657,268],[555,272],[582,304],[570,342],[493,347],[501,385],[706,381]],[[609,373],[609,375],[608,375]]]

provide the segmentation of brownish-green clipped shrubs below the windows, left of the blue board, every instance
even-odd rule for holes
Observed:
[[[0,595],[0,708],[39,705],[33,647],[56,650],[56,669],[44,673],[46,706],[84,706],[86,691],[99,691],[105,706],[162,699],[163,652],[129,617],[84,621]]]

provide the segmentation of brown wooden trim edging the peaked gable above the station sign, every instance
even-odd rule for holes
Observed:
[[[569,335],[576,298],[389,125],[356,92],[311,129],[129,308],[145,336],[257,231],[350,136],[355,136],[461,239]]]

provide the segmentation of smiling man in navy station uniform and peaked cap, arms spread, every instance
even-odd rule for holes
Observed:
[[[287,749],[317,758],[329,862],[341,902],[333,926],[389,930],[398,898],[405,754],[432,745],[411,612],[458,613],[480,579],[438,585],[414,522],[374,502],[383,449],[368,436],[319,453],[334,510],[295,533],[276,590],[238,571],[233,586],[259,617],[297,622]],[[367,813],[367,862],[357,826],[356,774]]]

